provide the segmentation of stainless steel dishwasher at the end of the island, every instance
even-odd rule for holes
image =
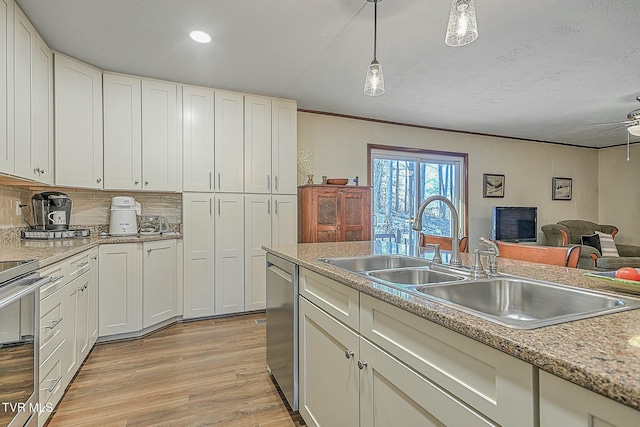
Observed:
[[[267,366],[298,410],[298,266],[267,254]]]

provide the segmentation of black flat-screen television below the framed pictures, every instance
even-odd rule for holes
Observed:
[[[536,242],[538,208],[494,206],[491,238],[504,242]]]

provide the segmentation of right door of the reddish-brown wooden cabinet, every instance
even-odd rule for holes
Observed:
[[[371,239],[371,200],[368,188],[340,190],[340,241]]]

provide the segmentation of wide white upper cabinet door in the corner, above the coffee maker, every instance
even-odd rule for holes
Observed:
[[[56,53],[55,183],[102,188],[102,72]]]

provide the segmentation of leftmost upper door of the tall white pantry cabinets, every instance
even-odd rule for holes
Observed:
[[[213,89],[182,87],[182,189],[213,191]]]

